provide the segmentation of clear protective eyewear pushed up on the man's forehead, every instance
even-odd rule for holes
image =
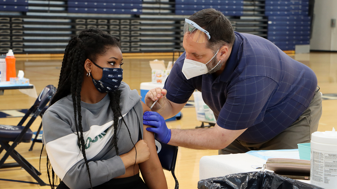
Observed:
[[[208,31],[204,30],[187,18],[185,18],[183,35],[184,38],[191,38],[196,43],[205,43],[211,38]]]

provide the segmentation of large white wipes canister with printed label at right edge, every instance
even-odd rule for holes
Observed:
[[[337,188],[337,131],[316,131],[311,135],[310,184]]]

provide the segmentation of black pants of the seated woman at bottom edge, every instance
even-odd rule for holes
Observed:
[[[88,178],[89,179],[89,178]],[[120,178],[120,179],[111,179],[108,182],[105,182],[101,185],[93,187],[93,189],[105,189],[105,188],[118,188],[118,189],[149,189],[142,178],[139,176],[139,174],[126,177],[126,178]],[[57,186],[56,189],[69,189],[67,185],[64,184],[63,181],[60,182],[60,184]]]

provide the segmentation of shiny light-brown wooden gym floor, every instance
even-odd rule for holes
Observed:
[[[130,85],[131,89],[139,91],[140,83],[151,81],[151,69],[149,61],[154,59],[165,60],[165,63],[172,61],[172,53],[129,53],[123,54],[124,69],[123,81]],[[295,60],[309,66],[317,75],[318,85],[323,94],[337,93],[337,52],[311,52],[310,54],[290,54]],[[37,93],[43,87],[52,84],[57,86],[61,69],[62,55],[59,54],[40,54],[40,55],[16,55],[16,69],[23,70],[25,77],[34,84]],[[177,55],[175,56],[177,58]],[[337,98],[331,98],[337,99]],[[28,109],[32,106],[35,99],[28,97],[19,90],[5,90],[4,95],[0,96],[0,111],[9,109]],[[331,130],[336,127],[337,100],[323,101],[323,115],[319,121],[318,130]],[[169,128],[194,128],[200,126],[201,122],[196,120],[194,108],[184,108],[181,120],[167,122]],[[21,117],[0,118],[0,124],[16,125]],[[31,129],[36,131],[41,119],[38,117]],[[35,168],[39,168],[39,156],[41,143],[36,143],[33,151],[28,151],[31,143],[21,143],[16,150],[23,155]],[[0,154],[2,157],[4,152]],[[190,150],[179,148],[176,164],[176,176],[181,189],[192,189],[197,187],[199,180],[199,160],[202,156],[217,155],[215,150]],[[46,152],[42,152],[40,178],[48,182],[46,174]],[[14,162],[9,157],[6,162]],[[174,179],[170,172],[165,171],[168,188],[174,188]],[[24,170],[18,167],[0,169],[0,179],[11,179],[35,182],[35,180]],[[49,186],[38,186],[20,182],[1,181],[0,188],[21,188],[21,189],[47,189]]]

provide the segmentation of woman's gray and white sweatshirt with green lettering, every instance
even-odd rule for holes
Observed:
[[[122,82],[120,107],[135,144],[143,136],[143,107],[137,90]],[[114,147],[114,118],[106,95],[96,104],[81,102],[83,136],[89,161],[92,186],[125,174],[122,159]],[[121,119],[121,118],[120,118]],[[56,175],[71,189],[90,188],[89,176],[78,146],[71,95],[54,103],[42,118],[43,137],[49,160]],[[119,154],[133,148],[128,130],[119,120],[117,130]]]

